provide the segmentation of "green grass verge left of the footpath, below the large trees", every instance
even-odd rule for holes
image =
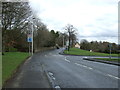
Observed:
[[[2,55],[2,84],[12,76],[28,56],[29,54],[24,52],[6,52]]]

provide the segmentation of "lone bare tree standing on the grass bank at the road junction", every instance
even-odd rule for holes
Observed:
[[[76,40],[76,35],[75,35],[75,31],[77,30],[73,25],[71,24],[68,24],[66,27],[65,27],[65,30],[67,31],[68,33],[68,38],[69,38],[69,46],[68,46],[68,51],[69,51],[69,48],[72,46],[72,40]]]

